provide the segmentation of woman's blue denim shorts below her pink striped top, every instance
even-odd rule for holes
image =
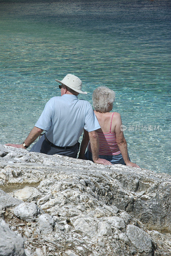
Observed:
[[[87,149],[87,152],[85,153],[85,157],[87,158],[87,160],[93,161],[92,159],[92,153],[89,151],[89,149]],[[111,156],[105,156],[105,155],[98,155],[99,158],[103,158],[108,160],[109,162],[111,162],[112,164],[123,164],[126,165],[122,154],[118,154],[118,155],[111,155]],[[130,158],[129,158],[130,160]]]

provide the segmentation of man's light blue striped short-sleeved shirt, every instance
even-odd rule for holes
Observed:
[[[48,140],[60,147],[76,144],[83,128],[88,132],[100,128],[91,104],[71,94],[51,98],[35,126],[47,131]]]

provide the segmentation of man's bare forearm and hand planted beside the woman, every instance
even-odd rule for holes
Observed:
[[[92,152],[93,162],[96,164],[112,165],[111,162],[102,158],[98,158],[99,140],[98,140],[98,134],[96,131],[89,132],[89,140],[91,143],[91,152]]]

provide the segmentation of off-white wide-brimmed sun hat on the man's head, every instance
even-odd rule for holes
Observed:
[[[75,92],[87,94],[87,92],[83,92],[82,89],[82,81],[77,76],[67,74],[62,81],[55,79],[60,84],[65,84]]]

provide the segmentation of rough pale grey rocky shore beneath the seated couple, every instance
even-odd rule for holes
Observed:
[[[0,145],[0,256],[169,256],[171,176]]]

